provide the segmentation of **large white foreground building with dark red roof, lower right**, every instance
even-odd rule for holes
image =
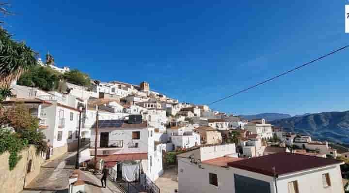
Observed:
[[[178,155],[180,193],[344,193],[338,160],[293,153],[245,160],[192,157]]]

